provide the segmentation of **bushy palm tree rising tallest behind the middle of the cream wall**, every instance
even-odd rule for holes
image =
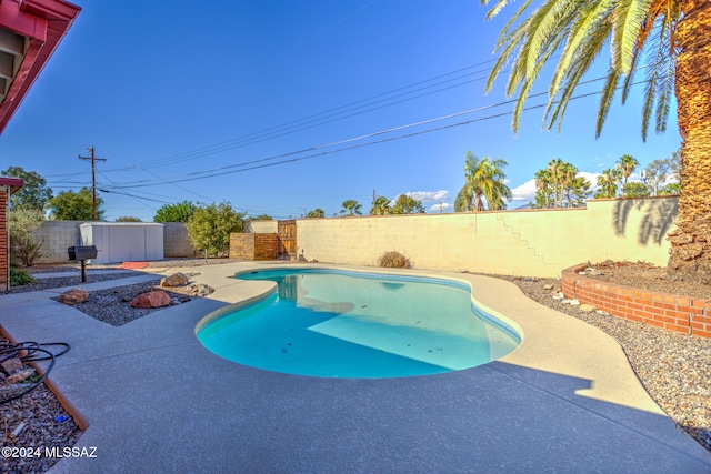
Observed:
[[[457,194],[454,209],[461,209],[465,202],[467,210],[483,211],[484,201],[490,211],[507,209],[504,198],[511,199],[511,190],[504,183],[507,175],[503,168],[507,165],[505,160],[488,157],[479,160],[471,151],[467,152],[465,184]]]

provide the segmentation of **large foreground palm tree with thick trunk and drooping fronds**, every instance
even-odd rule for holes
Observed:
[[[491,0],[483,0],[489,3]],[[510,0],[495,0],[488,18]],[[708,0],[545,0],[523,18],[532,2],[523,3],[499,37],[501,52],[487,90],[510,65],[507,93],[518,90],[513,130],[523,103],[543,65],[558,58],[549,85],[544,123],[559,129],[568,103],[593,60],[610,51],[610,68],[602,88],[595,134],[599,137],[618,89],[628,99],[634,71],[647,77],[642,100],[642,139],[652,117],[658,133],[667,130],[672,93],[682,138],[681,196],[677,229],[669,234],[668,270],[677,276],[711,281],[711,2]],[[514,27],[515,24],[515,27]],[[684,192],[684,190],[690,190]]]

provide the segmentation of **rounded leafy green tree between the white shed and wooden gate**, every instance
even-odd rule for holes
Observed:
[[[221,202],[197,208],[186,228],[196,249],[221,256],[230,249],[230,234],[242,232],[244,225],[244,213],[234,211],[229,202]]]

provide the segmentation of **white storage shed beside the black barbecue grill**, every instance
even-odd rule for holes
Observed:
[[[163,224],[148,222],[84,222],[82,245],[96,245],[92,263],[143,262],[163,259]]]

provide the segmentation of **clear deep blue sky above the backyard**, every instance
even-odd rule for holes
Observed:
[[[571,102],[560,133],[542,130],[534,109],[514,134],[512,105],[501,105],[505,75],[484,94],[513,8],[484,22],[478,0],[77,4],[0,137],[0,168],[37,171],[56,194],[77,191],[91,185],[78,157],[94,147],[107,159],[97,164],[107,220],[150,222],[182,200],[286,219],[314,208],[332,215],[356,199],[368,213],[373,191],[448,212],[469,150],[508,161],[513,209],[553,158],[594,177],[622,154],[645,165],[680,145],[674,113],[664,134],[642,142],[641,87],[624,107],[615,100],[598,140],[598,97]]]

